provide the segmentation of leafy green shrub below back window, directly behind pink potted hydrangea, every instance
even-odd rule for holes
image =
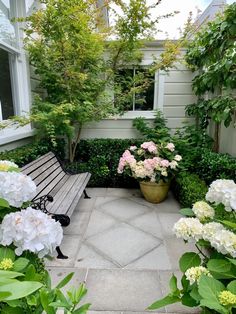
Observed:
[[[156,111],[155,119],[150,126],[144,118],[136,118],[133,120],[133,126],[148,141],[154,143],[169,142],[171,139],[170,129],[166,126],[167,119],[161,111]]]

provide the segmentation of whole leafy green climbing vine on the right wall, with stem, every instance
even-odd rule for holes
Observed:
[[[186,108],[200,126],[215,123],[215,150],[219,150],[220,125],[228,127],[236,109],[236,3],[202,28],[190,41],[186,61],[197,75],[193,91],[197,104]],[[208,93],[210,99],[204,100]],[[204,121],[204,122],[203,122]]]

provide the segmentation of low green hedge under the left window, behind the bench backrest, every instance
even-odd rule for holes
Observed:
[[[30,143],[22,147],[15,148],[13,150],[5,151],[0,153],[1,160],[10,160],[15,162],[19,167],[26,165],[27,163],[39,158],[49,151],[54,153],[61,159],[64,158],[64,146],[63,140],[58,141],[58,145],[55,149],[47,141],[39,141]]]

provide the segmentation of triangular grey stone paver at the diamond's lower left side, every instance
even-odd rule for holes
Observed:
[[[98,254],[87,245],[82,245],[75,261],[76,268],[117,268],[119,265],[112,263]]]

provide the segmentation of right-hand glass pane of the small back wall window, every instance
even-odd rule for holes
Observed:
[[[136,70],[139,85],[143,85],[142,92],[135,93],[135,110],[153,110],[154,104],[154,75],[151,75],[147,69]]]

